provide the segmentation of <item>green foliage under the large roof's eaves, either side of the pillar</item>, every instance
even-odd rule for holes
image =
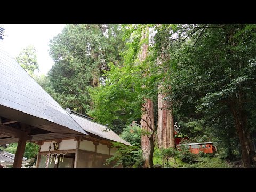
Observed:
[[[17,150],[17,143],[12,143],[7,148],[4,149],[4,151],[7,151],[9,153],[15,154]],[[24,157],[27,157],[28,159],[30,158],[35,158],[36,155],[38,154],[39,151],[39,145],[36,145],[35,143],[32,142],[27,142],[25,146],[25,152],[24,152]]]

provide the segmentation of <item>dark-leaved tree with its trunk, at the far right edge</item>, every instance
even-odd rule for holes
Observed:
[[[255,25],[176,25],[169,47],[174,56],[169,69],[176,68],[169,70],[175,74],[169,81],[170,102],[175,100],[184,116],[207,119],[208,126],[217,118],[226,117],[228,122],[232,117],[245,167],[251,167],[254,157],[255,29]]]

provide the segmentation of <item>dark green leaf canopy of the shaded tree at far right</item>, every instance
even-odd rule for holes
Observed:
[[[217,142],[227,158],[233,158],[239,146],[231,106],[246,116],[237,115],[246,132],[255,129],[255,29],[244,24],[154,29],[155,60],[163,52],[169,54],[159,68],[172,87],[166,89],[167,99],[183,123],[182,133]]]

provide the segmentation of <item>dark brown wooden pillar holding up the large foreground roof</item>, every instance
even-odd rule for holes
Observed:
[[[18,146],[17,146],[15,158],[14,158],[13,168],[21,168],[22,158],[24,155],[26,141],[27,141],[27,135],[28,133],[26,132],[21,133],[21,137],[19,138]]]

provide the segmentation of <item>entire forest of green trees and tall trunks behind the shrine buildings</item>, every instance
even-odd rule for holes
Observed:
[[[256,25],[66,25],[49,47],[47,75],[33,74],[37,62],[24,56],[31,46],[17,61],[64,109],[133,145],[114,143],[120,153],[108,162],[255,166]],[[211,141],[217,154],[177,150],[175,123],[190,138],[183,142]]]

